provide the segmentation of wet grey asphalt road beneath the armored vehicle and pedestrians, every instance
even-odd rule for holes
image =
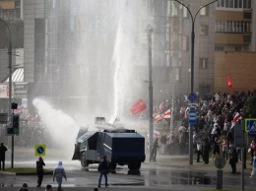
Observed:
[[[83,168],[78,160],[65,159],[61,151],[48,151],[43,157],[47,168],[54,168],[59,159],[63,163],[68,174],[68,181],[63,182],[64,190],[92,190],[97,185],[98,173],[96,165]],[[15,167],[35,165],[33,149],[16,148]],[[194,160],[195,161],[195,160]],[[7,155],[7,167],[10,166],[10,153]],[[253,190],[256,187],[255,178],[249,178],[251,166],[247,164],[244,170],[244,188]],[[241,172],[241,163],[237,163],[237,171]],[[240,190],[241,174],[231,175],[230,166],[226,164],[223,169],[223,188]],[[144,162],[140,171],[130,171],[127,166],[117,166],[116,173],[108,176],[110,184],[107,190],[202,190],[217,187],[217,168],[214,163],[208,165],[203,162],[188,164],[187,156],[159,156],[157,162]],[[36,175],[18,176],[0,174],[0,190],[17,190],[24,182],[31,187],[30,190],[43,190],[36,188]],[[102,180],[102,183],[104,181]],[[52,181],[51,175],[45,175],[43,186],[56,182]],[[100,188],[103,190],[106,188]]]

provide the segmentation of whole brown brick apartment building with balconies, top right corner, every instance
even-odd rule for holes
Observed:
[[[255,91],[256,2],[219,1],[216,8],[215,92]],[[232,89],[226,85],[229,76]]]

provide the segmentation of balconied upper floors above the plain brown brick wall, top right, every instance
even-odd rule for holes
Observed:
[[[219,1],[216,8],[217,51],[255,51],[255,19],[252,0]]]

